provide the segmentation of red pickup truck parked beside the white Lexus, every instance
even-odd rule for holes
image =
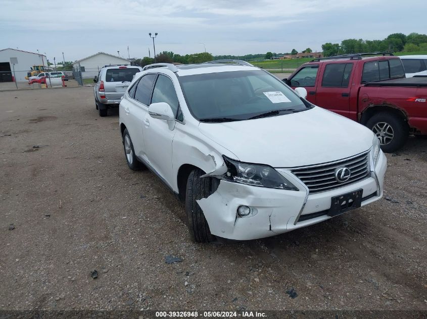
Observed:
[[[409,134],[427,135],[427,77],[407,79],[399,57],[372,55],[314,59],[283,81],[305,88],[311,103],[366,125],[384,152],[394,152]]]

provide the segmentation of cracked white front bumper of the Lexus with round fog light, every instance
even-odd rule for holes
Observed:
[[[301,190],[307,187],[296,176],[287,174],[286,178],[300,188],[299,192],[221,180],[212,195],[197,202],[213,235],[235,240],[269,237],[332,218],[328,211],[333,197],[362,189],[361,206],[381,199],[386,169],[387,158],[381,152],[370,177],[327,192],[308,194]],[[236,214],[242,205],[251,208],[253,213],[249,217]]]

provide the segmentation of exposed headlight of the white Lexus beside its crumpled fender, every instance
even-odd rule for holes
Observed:
[[[225,173],[227,180],[268,188],[299,190],[288,179],[280,175],[268,165],[243,163],[223,156],[228,171]]]

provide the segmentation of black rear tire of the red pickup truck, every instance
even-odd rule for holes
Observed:
[[[393,137],[391,139],[385,138],[384,136],[381,137],[378,133],[378,127],[381,127],[384,124],[390,125],[388,131],[393,133]],[[366,126],[380,138],[381,149],[385,153],[393,153],[397,151],[408,139],[408,124],[401,117],[390,112],[375,113],[368,119]]]

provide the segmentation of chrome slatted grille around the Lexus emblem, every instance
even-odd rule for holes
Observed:
[[[335,170],[340,167],[350,169],[349,180],[337,181]],[[326,192],[369,177],[369,152],[333,163],[296,168],[292,172],[308,187],[309,194]]]

